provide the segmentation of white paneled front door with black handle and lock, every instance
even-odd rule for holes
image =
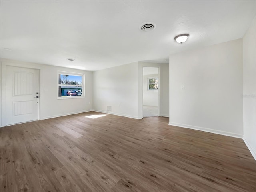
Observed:
[[[39,120],[39,70],[6,69],[6,124]]]

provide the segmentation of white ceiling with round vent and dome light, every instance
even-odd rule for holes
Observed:
[[[1,0],[0,6],[2,58],[91,71],[166,63],[175,52],[242,38],[256,14],[255,1],[244,0]],[[156,28],[140,31],[147,21]],[[174,41],[181,33],[190,34],[184,44]]]

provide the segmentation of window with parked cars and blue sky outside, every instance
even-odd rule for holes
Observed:
[[[84,74],[58,72],[58,98],[84,97]]]

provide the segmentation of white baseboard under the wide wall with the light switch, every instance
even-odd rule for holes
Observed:
[[[205,132],[209,132],[209,133],[215,133],[215,134],[219,134],[219,135],[225,135],[225,136],[230,136],[230,137],[235,137],[235,138],[240,138],[240,139],[243,138],[243,136],[240,134],[235,134],[235,133],[225,132],[225,131],[220,131],[220,130],[215,130],[215,129],[209,129],[209,128],[204,128],[204,127],[198,127],[198,126],[192,126],[192,125],[186,125],[186,124],[180,124],[180,123],[174,123],[174,122],[169,122],[168,125],[183,127],[183,128],[188,128],[188,129],[194,129],[194,130],[198,130],[198,131],[205,131]]]

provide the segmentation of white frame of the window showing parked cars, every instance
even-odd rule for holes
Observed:
[[[80,85],[64,85],[59,84],[59,75],[70,75],[70,76],[82,76],[82,90],[83,94],[81,96],[59,96],[59,86],[76,86],[81,87]],[[85,74],[84,73],[75,73],[75,72],[66,72],[66,71],[58,71],[57,72],[57,99],[78,99],[85,98]]]

